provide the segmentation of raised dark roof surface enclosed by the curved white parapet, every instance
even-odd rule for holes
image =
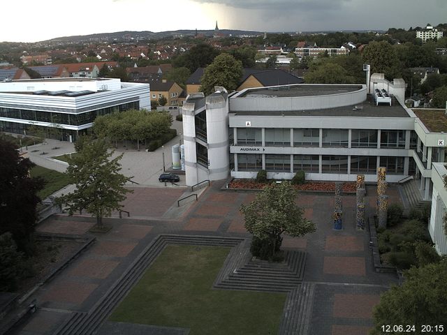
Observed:
[[[318,84],[297,84],[281,87],[262,87],[258,89],[248,89],[244,94],[235,98],[290,98],[293,96],[325,96],[330,94],[343,94],[355,92],[362,89],[362,85],[318,85]]]

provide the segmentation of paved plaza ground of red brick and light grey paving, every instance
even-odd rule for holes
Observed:
[[[180,129],[181,124],[174,123]],[[171,162],[170,146],[178,142],[179,136],[165,146],[166,166]],[[59,149],[52,149],[55,147]],[[31,153],[33,150],[39,151]],[[48,154],[41,155],[40,151]],[[48,144],[29,147],[26,156],[38,165],[64,171],[66,164],[51,157],[73,151],[73,144],[50,140]],[[124,153],[124,174],[138,183],[129,183],[133,193],[123,203],[130,216],[123,213],[119,218],[119,213],[113,213],[111,218],[105,218],[105,224],[111,229],[104,234],[89,232],[95,220],[86,214],[55,215],[38,225],[38,232],[84,235],[96,237],[96,241],[52,281],[34,292],[29,301],[36,299],[38,310],[14,334],[53,334],[73,312],[90,311],[160,234],[250,238],[239,208],[254,200],[255,191],[227,190],[223,189],[225,181],[215,181],[193,192],[199,195],[198,201],[189,198],[179,206],[177,201],[192,193],[184,186],[184,176],[178,186],[159,183],[158,175],[163,170],[162,149],[149,153],[117,151],[121,153]],[[61,192],[67,191],[69,188]],[[402,204],[397,188],[392,186],[387,193],[390,203]],[[375,210],[375,195],[376,188],[368,186],[365,204],[369,213]],[[368,334],[373,325],[372,308],[379,302],[381,292],[397,283],[397,277],[374,271],[369,232],[355,228],[356,196],[342,196],[342,231],[332,229],[333,194],[300,193],[297,204],[304,209],[305,217],[316,223],[317,230],[306,237],[284,236],[282,248],[307,253],[303,283],[314,288],[308,305],[312,306],[308,311],[308,334]],[[113,322],[105,322],[98,332],[112,334],[111,329],[118,334]],[[187,329],[128,324],[120,325],[119,329],[126,329],[129,335],[188,332]]]

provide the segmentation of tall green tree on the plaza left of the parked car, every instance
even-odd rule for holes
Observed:
[[[68,205],[70,214],[86,210],[96,217],[98,228],[102,229],[103,217],[122,209],[121,202],[126,199],[126,193],[131,192],[124,188],[129,178],[119,173],[119,160],[123,155],[110,159],[113,151],[108,151],[107,142],[91,137],[80,137],[75,149],[77,154],[68,158],[66,174],[76,189],[60,201]]]

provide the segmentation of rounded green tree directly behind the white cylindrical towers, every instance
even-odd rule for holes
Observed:
[[[205,68],[200,90],[211,94],[214,86],[223,86],[228,91],[233,91],[239,85],[242,73],[241,61],[237,61],[230,54],[219,54],[212,64]]]

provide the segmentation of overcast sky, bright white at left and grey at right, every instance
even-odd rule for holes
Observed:
[[[114,31],[409,29],[447,22],[447,0],[1,1],[0,41]]]

